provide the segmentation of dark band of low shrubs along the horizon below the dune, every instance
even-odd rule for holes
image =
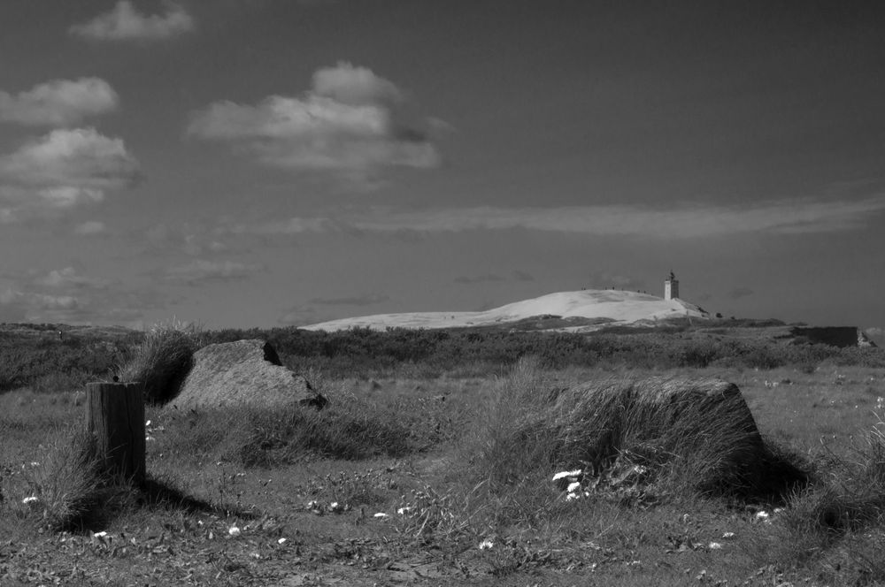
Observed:
[[[558,319],[551,316],[550,319]],[[327,377],[414,377],[504,373],[526,355],[544,369],[611,365],[640,369],[743,367],[813,370],[821,362],[885,367],[880,348],[796,344],[773,334],[778,321],[714,321],[703,327],[674,323],[656,327],[609,326],[592,333],[532,332],[507,328],[451,330],[357,328],[312,332],[296,328],[205,331],[201,343],[266,339],[282,362]],[[56,324],[0,327],[0,391],[80,387],[109,379],[132,358],[144,332],[83,329],[58,335]],[[772,329],[772,330],[769,330]],[[782,328],[789,332],[789,328]],[[784,338],[787,337],[787,338]]]

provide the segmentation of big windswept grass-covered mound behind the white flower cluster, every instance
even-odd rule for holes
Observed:
[[[670,494],[758,497],[804,482],[766,447],[733,384],[652,377],[563,386],[545,377],[519,362],[484,410],[470,458],[492,487],[533,471],[601,477],[635,466],[644,484]]]

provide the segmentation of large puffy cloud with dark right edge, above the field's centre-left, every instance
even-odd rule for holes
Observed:
[[[272,95],[254,106],[212,103],[196,112],[188,133],[230,143],[260,164],[369,185],[383,168],[440,163],[427,119],[405,105],[391,81],[339,63],[315,72],[312,89],[301,97]]]

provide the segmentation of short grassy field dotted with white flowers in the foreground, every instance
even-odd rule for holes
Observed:
[[[137,491],[82,456],[79,383],[3,393],[0,584],[885,582],[885,369],[415,371],[308,373],[331,400],[319,413],[149,407]],[[566,499],[551,478],[576,463],[520,423],[551,390],[652,376],[738,385],[811,483],[782,499],[701,492],[677,467],[643,491]]]

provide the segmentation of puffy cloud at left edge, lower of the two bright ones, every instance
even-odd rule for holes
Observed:
[[[108,190],[140,179],[123,141],[93,128],[58,129],[0,156],[0,200],[71,208],[104,200]]]

